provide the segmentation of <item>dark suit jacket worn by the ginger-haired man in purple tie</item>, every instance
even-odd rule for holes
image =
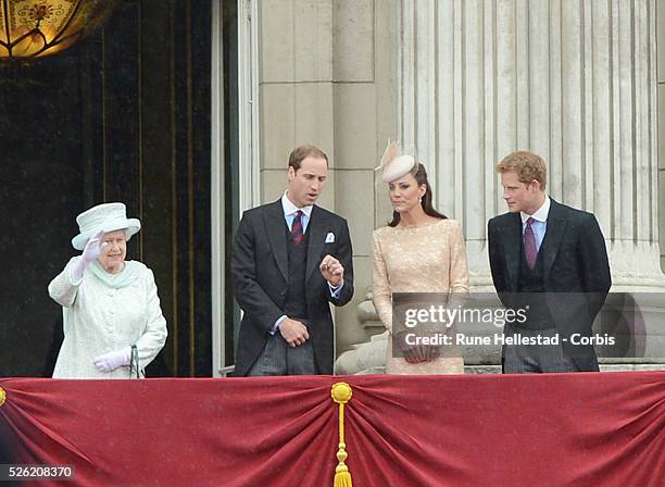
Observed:
[[[543,257],[545,302],[562,338],[591,335],[591,325],[612,286],[605,240],[595,217],[551,199],[539,252]],[[489,259],[499,298],[507,308],[519,289],[522,218],[505,213],[488,223]],[[592,346],[563,342],[581,371],[598,370]]]

